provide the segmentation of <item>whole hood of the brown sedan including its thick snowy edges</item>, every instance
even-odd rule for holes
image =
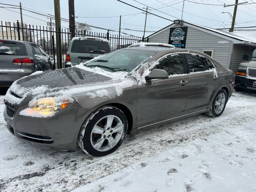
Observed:
[[[120,96],[123,89],[137,84],[127,72],[108,72],[100,68],[65,68],[32,74],[15,81],[4,99],[11,104],[20,104],[26,97],[38,99],[55,97],[78,99]],[[17,97],[18,96],[18,97]]]

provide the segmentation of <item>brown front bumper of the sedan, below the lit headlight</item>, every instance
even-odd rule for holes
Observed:
[[[27,106],[27,105],[26,105]],[[20,140],[41,148],[75,150],[80,128],[91,113],[81,108],[76,101],[48,118],[19,115],[25,105],[17,107],[13,117],[4,108],[7,129]],[[21,109],[20,109],[21,108]]]

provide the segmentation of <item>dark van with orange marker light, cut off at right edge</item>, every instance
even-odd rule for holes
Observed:
[[[243,57],[236,72],[234,89],[236,91],[256,90],[256,49],[248,56]]]

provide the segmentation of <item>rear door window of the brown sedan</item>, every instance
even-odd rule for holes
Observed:
[[[196,54],[185,54],[188,60],[190,72],[199,72],[209,70],[205,57]]]

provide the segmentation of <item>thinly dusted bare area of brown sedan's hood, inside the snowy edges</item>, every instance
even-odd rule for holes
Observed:
[[[61,88],[106,81],[111,81],[111,78],[73,67],[28,76],[18,80],[17,84],[24,88],[42,85],[47,85],[49,88]]]

